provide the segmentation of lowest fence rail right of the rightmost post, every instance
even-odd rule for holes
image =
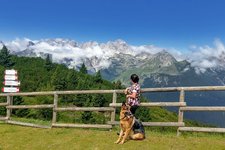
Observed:
[[[225,132],[225,128],[179,127],[179,131],[192,132]]]

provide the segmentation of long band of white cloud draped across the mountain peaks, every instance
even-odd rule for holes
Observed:
[[[109,41],[107,43],[86,42],[78,45],[68,39],[42,39],[32,41],[28,38],[15,39],[5,42],[5,45],[12,52],[16,53],[27,48],[41,56],[43,53],[52,55],[57,63],[69,61],[69,67],[73,68],[85,62],[90,68],[99,70],[108,68],[111,64],[111,57],[118,53],[137,55],[142,52],[156,54],[162,50],[168,51],[176,60],[188,60],[197,73],[205,72],[208,68],[225,66],[225,46],[216,39],[213,46],[191,45],[189,51],[183,52],[175,48],[163,48],[154,45],[129,45],[123,40]],[[90,62],[91,61],[91,62]],[[90,69],[89,68],[89,69]],[[225,67],[224,67],[225,68]]]

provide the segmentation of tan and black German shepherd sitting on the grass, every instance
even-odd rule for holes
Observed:
[[[120,135],[116,144],[123,144],[129,137],[133,140],[143,140],[145,138],[144,126],[130,112],[130,106],[122,103],[120,111]]]

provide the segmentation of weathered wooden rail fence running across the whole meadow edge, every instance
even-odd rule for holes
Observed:
[[[178,107],[178,120],[177,122],[143,122],[144,126],[172,126],[177,127],[177,135],[180,135],[181,131],[196,131],[196,132],[225,132],[225,128],[203,128],[203,127],[186,127],[184,123],[185,111],[225,111],[225,107],[196,107],[187,106],[185,102],[186,91],[225,91],[225,86],[201,86],[201,87],[167,87],[167,88],[144,88],[142,93],[145,92],[179,92],[179,102],[147,102],[141,103],[141,107]],[[5,121],[9,124],[31,126],[38,128],[51,128],[51,127],[80,127],[80,128],[112,128],[112,125],[118,125],[119,121],[116,121],[116,107],[121,107],[121,103],[117,103],[117,94],[123,93],[123,90],[81,90],[81,91],[48,91],[48,92],[21,92],[21,93],[4,93],[0,94],[0,97],[7,97],[7,101],[0,103],[0,107],[6,107],[6,116],[0,117],[1,121]],[[73,95],[73,94],[112,94],[112,103],[109,107],[59,107],[58,96],[59,95]],[[13,105],[13,96],[43,96],[52,95],[54,97],[53,104],[47,105]],[[43,109],[52,108],[53,116],[51,126],[43,126],[32,123],[25,123],[14,121],[11,118],[12,109]],[[62,111],[106,111],[111,113],[111,119],[107,124],[66,124],[57,122],[57,112]]]

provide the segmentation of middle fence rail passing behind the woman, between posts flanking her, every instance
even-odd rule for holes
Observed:
[[[111,107],[121,107],[122,103],[110,103]],[[143,107],[156,107],[156,106],[186,106],[186,102],[149,102],[140,103]]]

